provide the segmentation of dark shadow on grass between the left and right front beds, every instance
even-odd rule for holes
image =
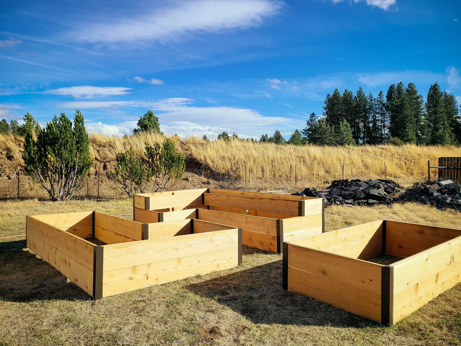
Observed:
[[[247,250],[258,252],[250,248]],[[282,288],[282,260],[190,284],[186,288],[227,305],[256,324],[341,328],[380,326],[377,322],[352,315],[303,294],[285,291]]]

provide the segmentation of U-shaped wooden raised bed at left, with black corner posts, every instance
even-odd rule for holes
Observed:
[[[242,263],[242,230],[143,224],[98,212],[27,216],[27,247],[95,299]],[[84,238],[94,237],[107,245]]]

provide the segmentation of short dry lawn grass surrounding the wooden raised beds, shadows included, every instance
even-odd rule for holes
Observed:
[[[131,217],[130,199],[0,204],[0,237],[23,234],[26,214],[98,210]],[[461,228],[461,213],[414,203],[325,209],[326,231],[377,219]],[[461,285],[383,328],[282,290],[281,257],[244,247],[243,265],[91,298],[25,248],[0,240],[0,345],[459,345]]]

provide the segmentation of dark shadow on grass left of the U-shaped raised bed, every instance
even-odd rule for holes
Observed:
[[[25,240],[0,243],[0,300],[90,300],[86,292],[26,249]]]

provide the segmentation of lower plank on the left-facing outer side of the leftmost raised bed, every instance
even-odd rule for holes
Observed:
[[[92,269],[85,267],[83,264],[67,256],[67,254],[57,250],[42,239],[35,237],[32,233],[27,234],[27,247],[83,289],[83,291],[89,295],[93,295]]]

